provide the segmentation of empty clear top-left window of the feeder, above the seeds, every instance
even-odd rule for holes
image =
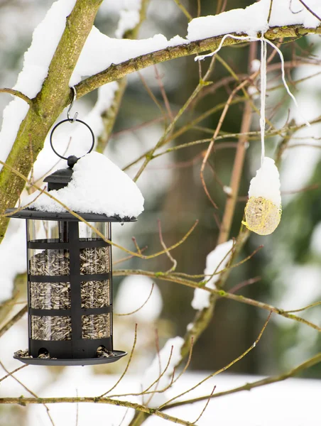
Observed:
[[[68,242],[68,222],[28,219],[28,241]]]

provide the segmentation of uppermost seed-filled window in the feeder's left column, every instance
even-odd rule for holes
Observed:
[[[69,275],[68,250],[28,249],[31,275]]]

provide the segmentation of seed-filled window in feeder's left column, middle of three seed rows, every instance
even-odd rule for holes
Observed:
[[[70,283],[30,283],[34,309],[70,309]]]

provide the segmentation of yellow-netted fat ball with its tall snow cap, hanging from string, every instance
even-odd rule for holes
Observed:
[[[264,157],[261,168],[251,180],[245,219],[242,223],[259,235],[272,234],[280,223],[280,175],[272,158]]]

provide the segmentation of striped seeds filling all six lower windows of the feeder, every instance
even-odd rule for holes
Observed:
[[[80,250],[82,275],[109,272],[109,247]],[[31,275],[69,275],[70,256],[67,250],[43,250],[31,256]],[[84,276],[85,279],[85,276]],[[105,307],[110,303],[109,280],[82,281],[81,307]],[[31,307],[35,309],[70,309],[70,283],[36,283],[30,285]],[[82,316],[82,338],[110,337],[110,316]],[[70,317],[31,317],[31,338],[38,340],[70,340]]]

